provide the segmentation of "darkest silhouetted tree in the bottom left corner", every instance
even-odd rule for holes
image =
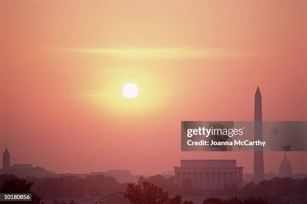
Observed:
[[[28,182],[26,179],[13,177],[10,180],[5,179],[5,182],[0,186],[0,193],[31,193],[32,201],[18,201],[18,203],[33,203],[40,204],[41,197],[31,191],[32,182]],[[12,201],[4,201],[3,203],[12,203]]]

